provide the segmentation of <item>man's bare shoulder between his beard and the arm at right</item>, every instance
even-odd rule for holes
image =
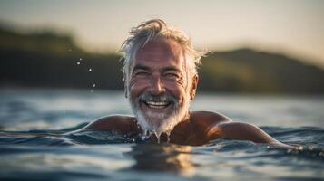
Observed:
[[[231,122],[231,119],[218,112],[192,111],[191,119],[206,126],[215,126],[224,122]]]

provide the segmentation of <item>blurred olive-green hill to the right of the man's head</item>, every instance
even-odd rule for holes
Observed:
[[[324,71],[280,54],[216,52],[202,60],[201,90],[323,93]]]

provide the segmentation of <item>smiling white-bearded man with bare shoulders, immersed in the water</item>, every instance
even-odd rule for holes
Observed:
[[[195,51],[182,31],[153,19],[130,34],[122,45],[123,73],[125,97],[134,117],[108,116],[82,130],[135,133],[152,142],[180,145],[232,138],[286,146],[254,125],[232,122],[216,112],[189,111],[198,84],[197,65],[204,53]]]

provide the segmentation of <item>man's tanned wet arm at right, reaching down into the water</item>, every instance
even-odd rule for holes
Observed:
[[[224,122],[211,128],[211,134],[220,138],[231,138],[239,140],[250,140],[255,143],[269,143],[272,145],[289,147],[280,141],[272,138],[259,127],[242,122]]]

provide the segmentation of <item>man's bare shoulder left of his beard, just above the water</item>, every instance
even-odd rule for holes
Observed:
[[[112,115],[96,119],[81,130],[115,130],[120,133],[127,133],[136,128],[134,117],[127,115]]]

